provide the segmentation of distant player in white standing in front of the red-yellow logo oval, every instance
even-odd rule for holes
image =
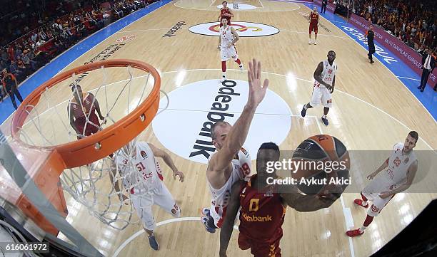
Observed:
[[[232,58],[240,70],[243,70],[243,64],[241,64],[240,59],[238,59],[238,54],[236,52],[235,43],[240,39],[238,33],[236,33],[235,28],[228,25],[228,18],[223,17],[221,19],[220,36],[218,36],[218,50],[220,50],[221,56],[221,82],[226,80],[226,61]]]

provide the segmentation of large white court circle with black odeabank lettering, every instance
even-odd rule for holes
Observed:
[[[226,121],[233,125],[248,98],[248,82],[243,80],[201,80],[169,94],[169,107],[152,122],[154,134],[164,147],[190,161],[206,164],[215,152],[211,125]],[[159,108],[167,105],[161,100]],[[244,147],[256,158],[263,142],[280,145],[291,128],[291,110],[276,93],[267,90],[256,109]]]

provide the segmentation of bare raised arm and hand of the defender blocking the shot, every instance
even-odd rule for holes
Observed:
[[[253,115],[255,114],[256,107],[263,100],[268,88],[268,80],[264,80],[261,85],[261,63],[253,59],[249,62],[248,68],[248,84],[249,94],[246,105],[240,117],[236,120],[235,124],[226,135],[226,140],[223,143],[223,147],[219,152],[211,157],[208,165],[208,172],[221,172],[225,169],[231,160],[233,155],[238,152],[246,141],[247,133]]]

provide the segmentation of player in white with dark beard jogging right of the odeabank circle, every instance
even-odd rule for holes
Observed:
[[[311,96],[311,102],[303,105],[301,115],[305,117],[306,110],[315,107],[317,105],[323,105],[323,115],[321,120],[324,125],[328,126],[329,108],[332,107],[332,97],[334,87],[336,85],[336,72],[337,65],[334,63],[336,60],[336,52],[328,52],[328,60],[318,63],[316,70],[314,70],[314,88],[313,95]]]

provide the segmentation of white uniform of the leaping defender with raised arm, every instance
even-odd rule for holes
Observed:
[[[209,157],[211,159],[213,154]],[[214,218],[216,226],[219,228],[223,222],[223,216],[226,215],[226,206],[228,206],[231,196],[231,188],[236,182],[248,179],[251,176],[251,157],[248,152],[241,148],[238,154],[232,160],[231,177],[220,189],[211,186],[208,179],[209,191],[211,192],[211,216]]]

